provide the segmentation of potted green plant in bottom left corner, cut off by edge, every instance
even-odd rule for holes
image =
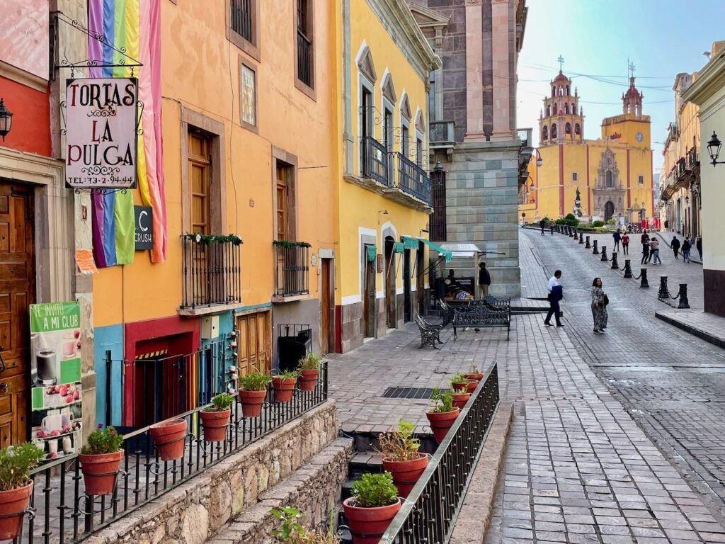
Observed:
[[[30,469],[45,452],[32,442],[0,450],[0,540],[12,540],[20,533],[22,516],[33,495]]]

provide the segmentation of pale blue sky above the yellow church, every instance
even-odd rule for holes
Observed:
[[[637,88],[645,94],[644,113],[652,118],[652,140],[662,142],[674,120],[674,76],[700,70],[707,62],[703,51],[725,39],[725,0],[526,0],[526,5],[518,59],[521,128],[538,127],[562,55],[564,73],[579,88],[584,136],[597,139],[602,118],[622,111],[629,57]],[[662,165],[662,147],[653,143],[655,172]]]

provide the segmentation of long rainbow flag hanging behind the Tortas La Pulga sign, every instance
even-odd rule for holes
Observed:
[[[161,128],[161,5],[160,0],[88,0],[88,54],[98,65],[120,65],[138,59],[134,67],[138,96],[144,103],[138,136],[138,191],[154,209],[152,261],[166,258],[166,199]],[[94,35],[103,36],[103,41]],[[120,49],[125,48],[125,57]],[[130,77],[124,66],[91,67],[91,78]],[[133,261],[133,194],[92,193],[93,245],[99,267]]]

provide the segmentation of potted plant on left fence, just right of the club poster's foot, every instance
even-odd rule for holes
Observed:
[[[123,436],[112,426],[98,428],[88,435],[80,448],[78,461],[88,495],[107,495],[116,487],[116,477],[123,460]]]

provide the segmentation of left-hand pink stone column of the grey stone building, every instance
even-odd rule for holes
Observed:
[[[481,0],[465,0],[464,141],[486,141],[484,133],[484,30]]]

